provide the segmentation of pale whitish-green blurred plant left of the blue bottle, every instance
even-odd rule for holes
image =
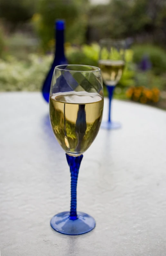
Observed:
[[[27,61],[13,56],[0,59],[0,91],[39,91],[52,56],[29,54]]]

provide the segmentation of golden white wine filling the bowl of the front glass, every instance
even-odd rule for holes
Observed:
[[[103,114],[103,98],[97,93],[66,92],[50,97],[50,120],[61,147],[81,155],[95,139]]]

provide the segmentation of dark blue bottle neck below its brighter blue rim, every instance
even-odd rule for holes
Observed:
[[[64,56],[64,30],[56,30],[56,47],[55,47],[55,58]]]

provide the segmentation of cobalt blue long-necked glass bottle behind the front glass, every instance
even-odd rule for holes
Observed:
[[[65,21],[57,20],[55,22],[55,30],[56,30],[55,57],[51,65],[51,69],[48,72],[42,87],[42,95],[47,102],[49,102],[51,80],[52,80],[52,74],[53,74],[54,68],[58,65],[67,64],[67,59],[64,54],[64,29],[65,29]]]

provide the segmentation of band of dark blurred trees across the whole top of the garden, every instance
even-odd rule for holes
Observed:
[[[139,37],[145,41],[149,37],[148,41],[165,47],[164,0],[111,0],[98,6],[90,6],[88,0],[1,0],[0,17],[10,31],[32,18],[44,51],[50,50],[57,18],[66,20],[66,41],[74,44],[82,44],[86,38]]]

